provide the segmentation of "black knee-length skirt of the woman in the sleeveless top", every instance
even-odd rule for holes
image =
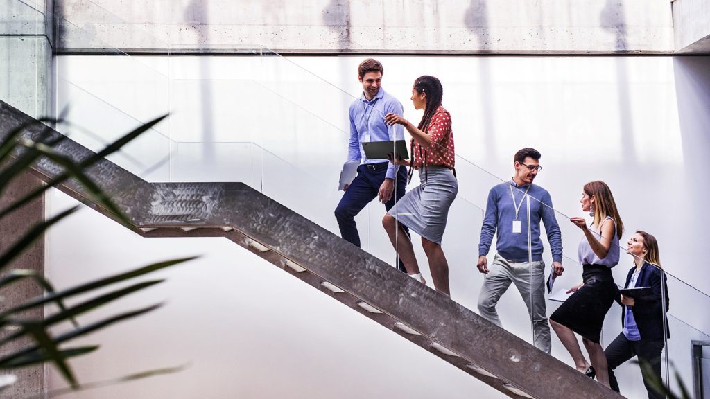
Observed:
[[[584,265],[584,285],[562,302],[550,319],[599,344],[601,325],[616,295],[611,269]]]

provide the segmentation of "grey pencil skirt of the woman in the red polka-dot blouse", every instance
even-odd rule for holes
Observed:
[[[459,183],[443,166],[419,170],[422,184],[407,192],[387,213],[425,239],[442,244],[444,229]]]

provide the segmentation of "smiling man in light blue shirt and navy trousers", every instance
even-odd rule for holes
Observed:
[[[349,109],[350,139],[348,142],[348,161],[361,162],[357,176],[345,185],[345,192],[340,203],[335,208],[341,236],[356,246],[360,246],[360,235],[357,231],[355,216],[375,197],[385,204],[389,210],[396,200],[405,194],[407,185],[407,168],[395,166],[386,159],[368,159],[362,148],[362,143],[370,141],[403,140],[404,129],[400,125],[387,126],[385,115],[403,114],[402,104],[386,93],[382,88],[382,64],[372,58],[361,62],[358,67],[358,78],[362,83],[363,93]],[[396,176],[396,179],[395,179]],[[397,193],[393,195],[395,189]],[[398,268],[405,271],[402,262]]]

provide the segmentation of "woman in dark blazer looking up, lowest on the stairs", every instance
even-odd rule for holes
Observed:
[[[626,252],[633,256],[634,267],[628,270],[624,288],[650,287],[652,295],[646,297],[625,297],[616,293],[616,302],[622,307],[621,326],[623,331],[604,350],[608,363],[611,389],[619,391],[614,368],[638,356],[661,378],[661,352],[665,339],[670,337],[665,312],[668,311],[668,286],[665,273],[661,269],[658,243],[654,236],[645,231],[636,231],[628,241]],[[662,298],[665,297],[665,305]],[[643,383],[649,399],[665,398],[651,388],[648,378]]]

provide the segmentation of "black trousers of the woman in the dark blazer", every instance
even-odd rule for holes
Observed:
[[[604,349],[609,370],[609,385],[611,389],[619,391],[619,384],[614,376],[614,369],[623,362],[638,356],[638,360],[647,361],[653,368],[653,373],[661,378],[661,352],[663,351],[663,339],[641,339],[640,341],[629,341],[623,334],[618,335],[609,346]],[[643,385],[646,386],[649,399],[665,399],[665,395],[657,393],[648,384],[643,376]]]

